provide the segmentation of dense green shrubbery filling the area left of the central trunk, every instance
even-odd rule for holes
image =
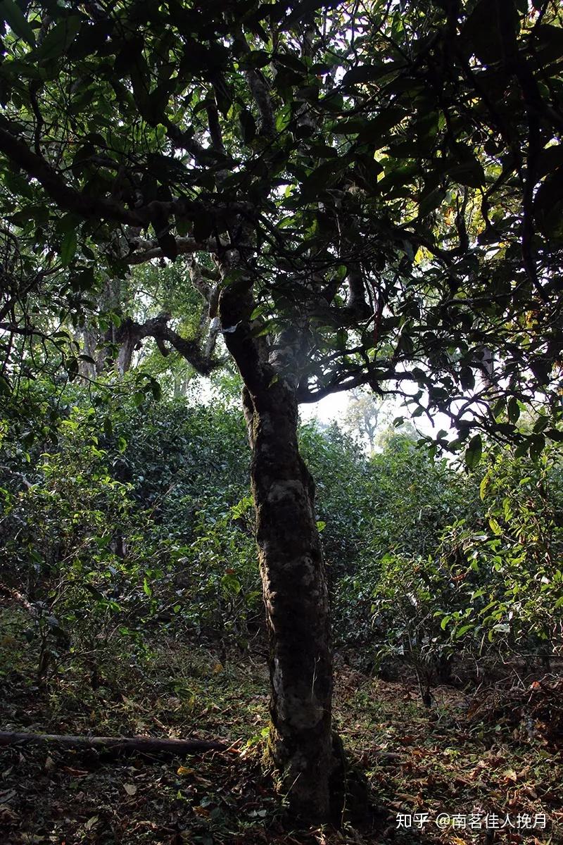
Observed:
[[[242,641],[259,594],[241,415],[133,395],[104,402],[102,427],[71,396],[57,444],[22,457],[8,438],[2,471],[2,581],[30,609],[41,672],[149,624]]]

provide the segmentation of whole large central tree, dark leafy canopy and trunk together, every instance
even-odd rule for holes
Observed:
[[[84,352],[57,320],[79,327],[107,279],[194,256],[182,286],[204,297],[244,383],[270,750],[294,809],[326,818],[328,591],[297,406],[369,384],[414,416],[449,415],[458,436],[435,449],[474,428],[531,455],[560,439],[560,11],[2,9],[6,389],[34,338],[78,373]],[[216,366],[170,313],[111,322],[122,348],[153,337],[200,373]],[[474,433],[470,466],[481,449]]]

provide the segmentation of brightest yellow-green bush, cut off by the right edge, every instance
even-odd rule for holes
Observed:
[[[442,559],[465,565],[470,612],[442,624],[466,648],[549,657],[563,645],[563,505],[560,455],[538,461],[505,449],[490,455],[480,482],[486,510],[478,525],[457,523],[441,539]]]

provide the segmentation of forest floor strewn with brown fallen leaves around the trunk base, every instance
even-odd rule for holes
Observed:
[[[478,695],[436,687],[429,711],[415,679],[385,682],[338,662],[335,722],[355,771],[340,829],[303,830],[290,825],[263,770],[262,660],[224,664],[165,635],[127,651],[114,638],[101,653],[62,657],[39,685],[36,659],[19,613],[4,612],[0,730],[233,747],[113,759],[59,745],[0,749],[2,845],[563,842],[563,679],[555,676],[521,683],[515,675],[512,689],[482,686]],[[360,778],[371,807],[362,818]]]

